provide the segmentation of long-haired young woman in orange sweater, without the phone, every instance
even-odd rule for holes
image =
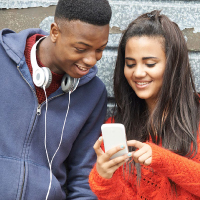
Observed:
[[[130,153],[110,157],[95,143],[90,173],[99,200],[200,199],[199,96],[186,42],[159,11],[143,14],[124,32],[114,72],[116,115]],[[131,162],[127,162],[132,158]]]

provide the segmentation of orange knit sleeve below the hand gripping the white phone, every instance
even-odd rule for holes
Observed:
[[[122,167],[115,171],[111,179],[102,178],[96,165],[89,176],[89,184],[92,191],[97,195],[98,200],[136,200],[136,187],[124,179]]]

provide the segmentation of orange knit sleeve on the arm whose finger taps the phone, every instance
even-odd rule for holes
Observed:
[[[200,144],[193,159],[148,143],[152,147],[152,167],[188,192],[200,197]]]

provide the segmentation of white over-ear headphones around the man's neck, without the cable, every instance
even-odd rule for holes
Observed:
[[[33,68],[33,82],[37,87],[48,88],[52,82],[52,73],[48,67],[39,67],[36,59],[36,50],[38,43],[43,40],[45,37],[41,37],[31,49],[31,65]],[[65,74],[61,81],[61,87],[64,92],[73,92],[78,84],[79,78],[72,78],[68,74]]]

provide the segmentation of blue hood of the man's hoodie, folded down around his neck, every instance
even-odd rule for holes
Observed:
[[[0,44],[4,48],[7,55],[16,63],[16,65],[23,65],[24,50],[26,46],[26,40],[28,37],[34,34],[48,35],[47,32],[39,29],[25,29],[16,33],[10,29],[2,29],[0,31]],[[22,62],[23,60],[23,62]],[[88,74],[80,78],[79,86],[86,84],[97,74],[96,65],[92,67]]]

